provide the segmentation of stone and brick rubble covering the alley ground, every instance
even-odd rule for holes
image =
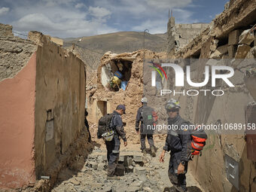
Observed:
[[[51,191],[172,191],[167,173],[169,157],[164,163],[159,163],[160,152],[160,150],[157,151],[157,157],[151,157],[150,154],[144,157],[139,151],[120,151],[117,175],[121,176],[119,181],[114,181],[107,180],[106,151],[95,147],[81,170],[68,168],[62,170],[58,177],[58,184]],[[196,183],[192,182],[192,184]]]

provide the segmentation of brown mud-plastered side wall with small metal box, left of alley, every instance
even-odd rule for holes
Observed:
[[[47,175],[84,127],[84,62],[42,36],[37,50],[35,101],[36,175]],[[47,59],[44,59],[47,58]]]

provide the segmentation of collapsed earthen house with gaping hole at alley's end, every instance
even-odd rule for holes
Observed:
[[[136,112],[141,106],[143,97],[143,59],[166,59],[166,53],[154,53],[150,50],[138,50],[133,53],[105,53],[101,59],[95,83],[87,85],[88,120],[98,123],[100,117],[112,113],[117,105],[126,105],[126,115],[123,116],[127,138],[133,138],[135,133]],[[118,91],[111,90],[109,82],[117,72],[117,62],[123,63],[127,71],[123,74],[127,84]]]

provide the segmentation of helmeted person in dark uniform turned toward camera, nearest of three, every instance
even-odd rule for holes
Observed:
[[[169,159],[169,180],[172,182],[176,191],[187,191],[186,172],[187,162],[190,159],[190,130],[182,129],[187,121],[179,115],[181,108],[179,102],[175,99],[166,103],[166,112],[168,114],[168,125],[174,127],[169,130],[166,137],[166,144],[160,154],[160,162],[163,162],[166,151],[171,151]],[[183,125],[183,126],[182,126]]]

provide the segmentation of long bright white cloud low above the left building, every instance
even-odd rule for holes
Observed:
[[[58,22],[56,22],[54,18],[50,19],[48,15],[45,14],[28,14],[12,23],[12,25],[16,31],[28,32],[36,30],[43,32],[45,35],[56,36],[59,38],[98,35],[104,32],[117,31],[117,29],[113,29],[100,21],[77,18],[75,20],[67,19],[58,20]]]

